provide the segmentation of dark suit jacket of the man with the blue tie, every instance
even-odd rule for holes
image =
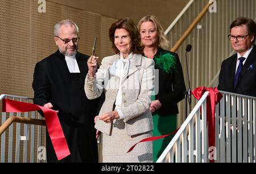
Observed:
[[[256,46],[253,45],[253,50],[251,50],[251,53],[242,67],[237,87],[234,88],[236,63],[237,54],[234,54],[222,62],[218,80],[218,90],[256,97]]]

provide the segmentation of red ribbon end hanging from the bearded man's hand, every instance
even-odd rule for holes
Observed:
[[[22,101],[15,101],[3,99],[3,112],[30,112],[30,111],[43,111],[44,118],[46,119],[46,127],[52,141],[58,160],[70,155],[67,141],[65,139],[63,130],[60,125],[59,118],[56,111],[44,108],[32,103],[24,103]]]

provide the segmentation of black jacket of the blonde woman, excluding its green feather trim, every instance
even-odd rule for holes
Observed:
[[[162,52],[169,51],[159,48],[158,53],[156,53],[155,56]],[[159,78],[155,77],[156,80],[159,79],[159,90],[158,94],[155,96],[155,100],[159,100],[162,104],[162,108],[156,110],[156,113],[158,113],[160,116],[179,113],[177,103],[184,99],[184,91],[186,91],[179,56],[174,52],[169,53],[174,55],[176,58],[177,65],[175,70],[171,70],[170,73],[166,73],[155,65],[155,69],[159,69]]]

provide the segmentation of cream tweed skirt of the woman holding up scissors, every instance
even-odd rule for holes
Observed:
[[[102,162],[152,163],[154,160],[152,142],[139,143],[133,151],[127,153],[131,146],[148,137],[152,137],[152,131],[128,136],[125,122],[114,120],[112,134],[102,134]]]

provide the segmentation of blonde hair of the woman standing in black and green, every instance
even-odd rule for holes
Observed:
[[[169,42],[164,36],[164,30],[163,27],[160,25],[159,20],[154,15],[147,15],[144,16],[138,23],[138,30],[141,31],[141,24],[143,22],[152,22],[155,24],[155,29],[158,32],[158,46],[160,48],[168,48]]]

